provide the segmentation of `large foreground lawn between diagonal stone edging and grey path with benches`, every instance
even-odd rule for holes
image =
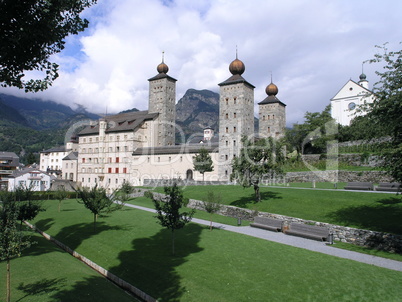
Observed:
[[[125,208],[100,217],[94,231],[92,215],[82,205],[67,200],[59,213],[57,204],[45,202],[47,211],[34,223],[159,301],[398,301],[402,293],[401,272],[220,229],[211,232],[194,223],[177,232],[177,253],[172,256],[171,234],[153,213]],[[47,249],[16,261],[30,263],[29,270],[35,271],[40,265],[37,257],[47,258]],[[53,276],[56,264],[50,263],[25,286],[62,279]],[[91,278],[72,281],[72,291],[82,287],[85,293],[98,296],[97,289],[90,287]],[[20,282],[15,276],[13,287]],[[69,288],[61,284],[59,291],[69,293]],[[99,301],[124,301],[98,297],[102,297]],[[57,298],[26,301],[77,300]]]

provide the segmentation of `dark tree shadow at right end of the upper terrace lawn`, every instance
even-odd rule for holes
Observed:
[[[401,198],[384,198],[372,205],[352,206],[328,215],[331,223],[402,235]]]

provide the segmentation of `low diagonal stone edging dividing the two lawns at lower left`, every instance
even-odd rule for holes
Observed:
[[[81,254],[77,253],[76,251],[72,250],[71,248],[69,248],[67,245],[65,245],[64,243],[58,241],[57,239],[53,238],[52,236],[50,236],[49,234],[41,231],[40,229],[38,229],[36,226],[30,224],[29,222],[25,221],[25,224],[27,226],[29,226],[31,229],[35,230],[36,232],[38,232],[39,234],[41,234],[44,238],[46,238],[49,241],[52,241],[54,244],[56,244],[57,246],[59,246],[61,249],[63,249],[64,251],[66,251],[67,253],[69,253],[70,255],[74,256],[75,258],[77,258],[78,260],[80,260],[81,262],[85,263],[86,265],[88,265],[90,268],[92,268],[93,270],[97,271],[98,273],[100,273],[102,276],[106,277],[107,279],[109,279],[110,281],[112,281],[113,283],[117,284],[120,288],[132,293],[134,296],[142,299],[142,301],[146,301],[146,302],[157,302],[156,299],[152,298],[150,295],[144,293],[143,291],[141,291],[140,289],[136,288],[135,286],[131,285],[130,283],[124,281],[123,279],[117,277],[116,275],[112,274],[111,272],[109,272],[108,270],[104,269],[103,267],[99,266],[98,264],[96,264],[95,262],[92,262],[91,260],[89,260],[88,258],[82,256]]]

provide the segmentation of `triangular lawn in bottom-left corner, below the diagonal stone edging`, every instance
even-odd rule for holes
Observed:
[[[11,301],[137,301],[37,233],[37,244],[11,260]],[[0,262],[0,301],[6,301],[6,263]],[[99,297],[103,297],[101,300]]]

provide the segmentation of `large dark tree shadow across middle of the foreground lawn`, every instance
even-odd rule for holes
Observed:
[[[160,230],[148,238],[134,239],[133,249],[119,254],[121,264],[110,272],[151,295],[158,301],[175,302],[186,292],[176,268],[190,254],[201,252],[198,246],[203,227],[189,224],[175,231],[175,255],[172,255],[172,232]]]

